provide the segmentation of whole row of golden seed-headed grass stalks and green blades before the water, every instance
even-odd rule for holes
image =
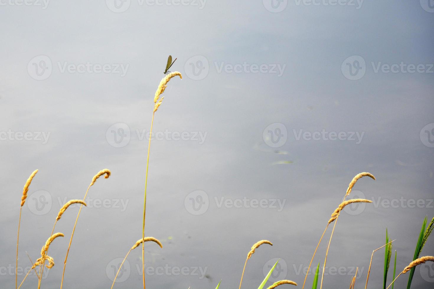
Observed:
[[[161,94],[164,93],[164,90],[167,87],[168,82],[171,80],[171,78],[174,78],[175,76],[179,76],[182,79],[182,75],[179,72],[173,72],[168,74],[167,76],[165,76],[160,84],[158,85],[157,91],[155,92],[155,97],[154,97],[154,107],[153,107],[153,112],[152,112],[152,120],[151,120],[151,130],[150,130],[150,134],[152,133],[152,128],[153,128],[153,124],[154,124],[154,118],[155,118],[155,113],[157,112],[158,108],[161,106],[161,103],[164,99],[164,97],[161,97]],[[141,245],[142,247],[142,276],[143,276],[143,288],[145,289],[146,285],[145,285],[145,243],[148,241],[152,241],[155,242],[156,244],[158,244],[161,248],[163,247],[161,242],[154,238],[154,237],[145,237],[145,217],[146,217],[146,195],[147,195],[147,186],[148,186],[148,168],[149,168],[149,153],[150,153],[150,149],[151,149],[151,138],[149,138],[149,143],[148,143],[148,155],[147,155],[147,160],[146,160],[146,173],[145,173],[145,192],[144,192],[144,200],[143,200],[143,223],[142,223],[142,237],[141,239],[139,239],[137,242],[135,242],[135,244],[128,250],[128,253],[125,255],[124,260],[122,261],[121,265],[118,268],[118,272],[115,275],[115,279],[113,280],[112,283],[112,287],[114,287],[115,285],[115,281],[116,278],[118,276],[119,271],[121,270],[125,260],[127,259],[128,255],[131,253],[132,250],[134,250],[135,248],[139,247]],[[33,178],[35,177],[36,173],[38,172],[38,170],[35,170],[29,177],[29,179],[27,179],[26,184],[24,186],[23,189],[23,196],[21,198],[21,205],[20,205],[20,217],[19,217],[19,221],[18,221],[18,234],[17,234],[17,241],[16,241],[16,268],[18,266],[18,243],[19,243],[19,237],[20,237],[20,222],[21,222],[21,211],[23,208],[23,205],[26,201],[27,198],[27,193],[29,191],[29,187],[30,184],[33,180]],[[96,180],[99,179],[99,177],[101,176],[105,176],[105,178],[109,178],[109,176],[111,175],[111,172],[109,171],[109,169],[103,169],[100,172],[98,172],[93,178],[92,178],[92,182],[90,183],[89,187],[86,190],[86,193],[84,195],[84,198],[82,200],[70,200],[68,201],[65,205],[63,205],[63,207],[60,209],[59,214],[56,217],[56,220],[54,222],[53,225],[53,230],[49,236],[49,238],[46,240],[45,244],[42,247],[41,250],[41,257],[39,257],[35,263],[32,262],[32,260],[30,259],[30,262],[32,264],[31,270],[35,270],[36,276],[38,277],[38,289],[41,286],[41,281],[42,281],[42,274],[43,274],[43,270],[44,270],[44,266],[47,269],[50,269],[54,266],[54,260],[52,257],[48,256],[48,250],[49,247],[51,245],[51,243],[53,242],[53,240],[55,240],[57,237],[64,237],[64,234],[62,233],[55,233],[54,234],[54,230],[57,224],[57,221],[60,220],[60,218],[62,217],[62,214],[65,213],[66,209],[72,205],[72,204],[80,204],[80,208],[79,208],[79,212],[77,214],[77,218],[74,224],[74,227],[72,228],[72,233],[70,236],[70,240],[69,240],[69,246],[68,246],[68,250],[66,251],[66,257],[64,260],[64,264],[63,264],[63,272],[62,272],[62,281],[60,283],[60,288],[62,289],[63,286],[63,281],[64,281],[64,276],[65,276],[65,269],[66,269],[66,262],[68,259],[68,254],[69,254],[69,249],[71,247],[72,244],[72,237],[74,235],[75,229],[76,229],[76,225],[77,225],[77,221],[79,219],[79,215],[81,212],[81,209],[83,206],[86,206],[85,203],[85,198],[89,192],[89,189],[92,185],[95,184]],[[360,198],[356,198],[356,199],[349,199],[346,200],[346,198],[351,194],[352,188],[354,187],[354,185],[356,184],[356,182],[358,181],[358,179],[361,179],[362,177],[368,176],[372,179],[375,180],[374,175],[368,173],[368,172],[362,172],[359,173],[358,175],[356,175],[352,181],[349,183],[349,186],[345,192],[344,198],[342,200],[342,203],[339,204],[339,206],[335,209],[335,211],[332,212],[331,214],[331,218],[329,219],[329,221],[327,222],[327,224],[325,225],[325,229],[324,232],[322,233],[322,236],[319,239],[318,245],[316,246],[312,259],[310,260],[309,263],[309,267],[308,270],[306,271],[307,273],[310,271],[310,267],[312,266],[312,262],[316,256],[319,244],[322,241],[322,238],[324,237],[325,232],[327,231],[328,227],[330,224],[333,224],[333,228],[332,228],[332,232],[327,244],[327,249],[325,251],[325,256],[324,256],[324,265],[322,266],[322,274],[321,274],[321,281],[319,282],[319,275],[320,275],[320,262],[318,263],[318,265],[316,266],[316,270],[315,270],[315,274],[313,276],[313,281],[312,281],[312,289],[317,289],[318,287],[318,283],[319,288],[322,289],[322,287],[324,286],[325,282],[324,282],[324,273],[325,273],[325,266],[326,266],[326,262],[327,262],[327,257],[328,257],[328,253],[329,253],[329,248],[330,248],[330,244],[332,243],[332,237],[333,237],[333,233],[335,231],[335,227],[336,224],[338,222],[339,216],[341,214],[342,209],[345,208],[345,206],[350,205],[350,204],[354,204],[354,203],[372,203],[372,201],[367,200],[367,199],[360,199]],[[379,247],[378,249],[375,249],[372,251],[372,255],[371,255],[371,261],[369,263],[369,269],[368,269],[368,276],[366,278],[366,283],[365,283],[365,289],[368,286],[368,280],[369,280],[369,273],[371,271],[371,266],[372,266],[372,258],[374,256],[374,253],[380,249],[382,249],[383,247],[385,248],[385,260],[384,260],[384,276],[383,276],[383,289],[388,289],[390,287],[394,286],[394,282],[396,279],[398,279],[399,276],[401,276],[401,274],[405,274],[407,272],[409,273],[409,279],[408,279],[408,286],[407,289],[410,289],[411,286],[411,280],[413,279],[413,275],[414,275],[414,268],[416,266],[418,266],[419,264],[425,263],[427,261],[434,261],[434,257],[432,256],[424,256],[424,257],[419,257],[420,253],[422,251],[422,248],[424,247],[424,244],[426,243],[429,235],[431,234],[431,231],[434,228],[434,218],[432,219],[431,223],[427,226],[427,218],[424,219],[424,222],[422,224],[422,228],[421,228],[421,233],[419,235],[418,238],[418,242],[417,242],[417,246],[416,246],[416,250],[414,252],[414,258],[411,261],[411,263],[404,268],[404,270],[398,274],[398,276],[395,277],[395,273],[396,273],[396,258],[397,258],[397,252],[395,251],[395,262],[394,262],[394,270],[393,270],[393,281],[392,283],[386,287],[387,285],[387,277],[388,277],[388,271],[389,271],[389,265],[390,265],[390,261],[391,261],[391,255],[392,255],[392,242],[394,242],[395,240],[390,241],[389,240],[389,235],[388,235],[388,231],[386,229],[386,241],[385,241],[385,245],[383,245],[382,247]],[[244,263],[244,267],[243,267],[243,271],[241,274],[241,280],[240,280],[240,286],[239,289],[241,289],[242,287],[242,283],[243,283],[243,276],[246,270],[246,266],[247,266],[247,261],[250,260],[250,258],[252,257],[253,253],[255,253],[255,250],[258,249],[261,245],[263,244],[269,244],[271,246],[273,246],[273,244],[268,241],[268,240],[260,240],[259,242],[256,242],[255,244],[253,244],[253,246],[251,247],[251,250],[247,253],[247,258],[246,261]],[[48,261],[48,265],[46,264],[46,261]],[[268,279],[270,278],[271,274],[273,273],[273,270],[275,269],[277,263],[279,262],[279,260],[274,264],[274,266],[271,268],[270,272],[267,274],[267,276],[263,279],[263,282],[259,285],[258,289],[263,289],[266,285],[266,283],[268,282]],[[36,267],[39,266],[39,272],[36,271]],[[17,286],[18,284],[18,279],[17,279],[17,274],[16,274],[16,278],[15,278],[15,288],[19,289],[24,281],[26,280],[26,277],[29,275],[29,273],[31,272],[31,270],[29,272],[27,272],[27,275],[24,277],[24,279],[22,280],[22,282],[20,283],[20,286]],[[356,270],[355,276],[352,276],[350,279],[350,289],[354,289],[355,288],[355,283],[356,283],[356,276],[357,276],[357,272],[358,272],[358,268]],[[306,286],[306,280],[307,280],[307,276],[308,274],[306,273],[306,277],[303,281],[303,285],[302,285],[302,289],[304,289],[304,287]],[[216,289],[219,289],[220,284],[221,284],[221,280],[220,282],[217,284]],[[280,280],[277,281],[276,283],[273,283],[271,286],[268,286],[267,289],[274,289],[278,286],[284,286],[284,285],[293,285],[293,286],[297,286],[297,283],[291,281],[291,280]],[[378,287],[378,286],[377,286]]]

